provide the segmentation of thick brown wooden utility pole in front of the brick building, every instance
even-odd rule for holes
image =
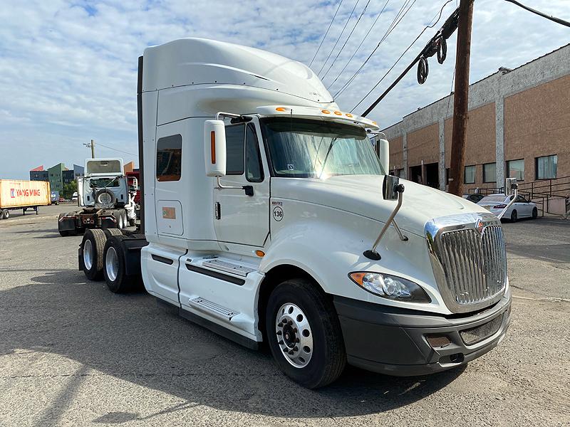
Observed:
[[[455,93],[453,95],[453,132],[449,192],[463,194],[465,174],[465,139],[467,139],[467,109],[469,100],[469,59],[473,0],[461,0],[457,27],[457,55],[455,58]]]

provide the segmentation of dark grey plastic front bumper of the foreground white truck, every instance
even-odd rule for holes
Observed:
[[[511,315],[509,291],[492,307],[462,317],[444,317],[338,296],[334,297],[334,305],[348,363],[395,376],[431,374],[477,359],[502,341]],[[492,327],[491,333],[486,332],[489,335],[484,334],[480,342],[465,344],[462,334],[483,325],[497,325],[498,329],[494,332]],[[427,337],[430,340],[447,337],[449,343],[432,347]]]

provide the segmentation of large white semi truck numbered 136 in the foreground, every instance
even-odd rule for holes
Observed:
[[[316,388],[345,365],[393,375],[465,364],[504,338],[499,219],[389,176],[317,76],[254,48],[185,38],[139,58],[139,233],[88,230],[88,278],[142,282],[199,325]],[[367,133],[371,132],[371,133]]]

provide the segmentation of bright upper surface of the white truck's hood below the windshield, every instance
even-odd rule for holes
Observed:
[[[382,196],[383,175],[345,175],[328,179],[272,178],[271,197],[305,201],[366,216],[384,222],[396,201]],[[432,218],[489,211],[470,201],[429,186],[400,179],[404,184],[403,203],[395,216],[400,228],[423,236],[424,225]]]

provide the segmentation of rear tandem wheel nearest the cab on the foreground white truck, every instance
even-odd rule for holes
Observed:
[[[103,251],[103,274],[107,288],[113,293],[129,292],[135,288],[138,276],[126,275],[125,254],[120,242],[127,236],[111,236]]]

